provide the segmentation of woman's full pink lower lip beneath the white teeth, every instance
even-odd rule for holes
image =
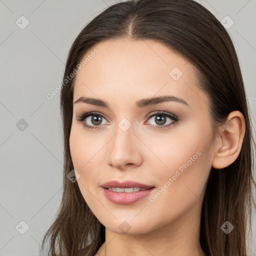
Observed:
[[[114,192],[114,191],[108,190],[107,188],[102,187],[105,197],[110,202],[117,203],[117,204],[131,204],[133,202],[136,202],[144,198],[145,196],[149,195],[154,188],[155,187],[152,187],[146,190],[140,190],[137,192],[126,193],[126,192]]]

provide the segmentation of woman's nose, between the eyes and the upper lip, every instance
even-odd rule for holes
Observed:
[[[125,170],[141,164],[142,143],[133,132],[132,126],[126,131],[116,128],[116,134],[107,147],[107,163],[112,168]]]

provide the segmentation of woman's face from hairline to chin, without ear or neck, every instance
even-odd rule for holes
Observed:
[[[95,48],[98,53],[74,83],[73,102],[83,96],[107,105],[74,103],[69,143],[83,198],[116,233],[122,227],[146,233],[185,213],[198,214],[213,157],[209,99],[196,84],[193,65],[159,42],[145,42],[94,45],[86,55]],[[148,100],[153,97],[162,98]],[[106,192],[101,185],[110,180],[153,188]]]

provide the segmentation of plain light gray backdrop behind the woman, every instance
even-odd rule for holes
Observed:
[[[59,93],[51,100],[46,94],[60,84],[76,35],[113,2],[0,0],[0,255],[39,254],[62,193]],[[256,0],[198,2],[219,20],[228,15],[234,21],[227,30],[238,54],[255,127]],[[15,23],[21,23],[21,15],[29,21],[24,29]],[[17,123],[24,124],[23,130]],[[253,216],[255,240],[255,212]],[[17,231],[25,231],[22,220],[29,226],[24,234]],[[252,255],[255,249],[250,249]]]

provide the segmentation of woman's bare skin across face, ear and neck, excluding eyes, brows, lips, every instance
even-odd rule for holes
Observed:
[[[99,52],[75,77],[73,102],[80,96],[100,98],[109,102],[110,109],[74,104],[69,143],[83,198],[106,227],[106,242],[97,254],[105,255],[106,249],[107,256],[205,256],[199,224],[208,175],[211,166],[223,168],[237,158],[245,132],[243,115],[231,112],[214,140],[209,99],[196,84],[193,65],[181,55],[160,42],[129,38],[98,43],[86,54],[95,48]],[[183,73],[177,80],[169,75],[173,67]],[[188,105],[175,101],[141,109],[135,105],[136,100],[162,95],[180,97]],[[155,121],[157,114],[146,119],[157,110],[177,115],[179,122],[157,129],[161,126]],[[92,116],[83,121],[98,128],[88,129],[76,120],[89,111],[106,117],[99,125],[91,122]],[[131,124],[126,131],[118,127],[122,118]],[[166,116],[162,126],[171,121]],[[155,186],[153,195],[197,151],[197,159],[153,202],[144,197],[129,205],[115,204],[100,187],[109,180],[130,179]],[[128,231],[123,232],[120,224]]]

